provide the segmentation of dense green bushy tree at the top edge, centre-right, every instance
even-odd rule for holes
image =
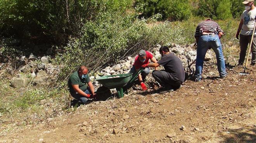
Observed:
[[[145,18],[158,13],[163,20],[171,21],[186,20],[191,16],[188,0],[136,0],[135,9]]]

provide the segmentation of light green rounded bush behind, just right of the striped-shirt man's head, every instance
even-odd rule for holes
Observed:
[[[232,18],[232,14],[230,11],[230,0],[222,0],[219,6],[216,9],[216,14],[218,15],[218,19],[230,19]]]

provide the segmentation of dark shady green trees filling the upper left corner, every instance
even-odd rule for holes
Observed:
[[[104,12],[125,11],[131,6],[131,2],[131,0],[1,0],[0,31],[2,35],[14,35],[20,38],[51,37],[51,40],[58,43],[64,41],[66,35],[78,36],[81,26],[86,21],[94,20]]]

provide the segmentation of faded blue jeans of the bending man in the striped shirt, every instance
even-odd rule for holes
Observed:
[[[195,79],[197,80],[202,79],[201,74],[203,70],[204,58],[209,48],[212,48],[216,54],[220,77],[225,77],[227,75],[219,37],[217,35],[203,35],[199,38],[197,45],[197,56],[195,63]]]

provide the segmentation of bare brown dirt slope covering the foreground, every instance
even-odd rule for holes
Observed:
[[[247,76],[229,70],[225,79],[187,81],[169,94],[133,91],[52,121],[14,126],[0,142],[255,143],[255,106],[255,69]]]

